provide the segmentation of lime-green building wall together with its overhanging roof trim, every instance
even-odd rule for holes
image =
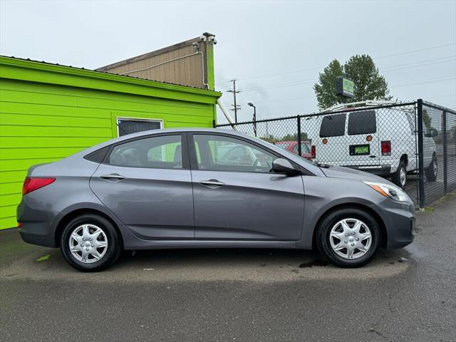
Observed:
[[[117,117],[212,127],[220,93],[0,57],[0,229],[16,226],[26,171],[117,136]]]

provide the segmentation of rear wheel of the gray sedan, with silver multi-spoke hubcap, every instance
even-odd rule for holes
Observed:
[[[86,272],[106,269],[123,250],[113,224],[98,214],[82,214],[68,222],[63,229],[60,245],[68,264]],[[74,252],[71,252],[71,248]]]

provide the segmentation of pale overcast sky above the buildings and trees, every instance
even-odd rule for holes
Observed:
[[[399,101],[456,108],[456,0],[0,0],[0,54],[84,68],[214,33],[216,89],[238,120],[314,113],[334,58],[371,56]],[[224,117],[218,113],[219,122]]]

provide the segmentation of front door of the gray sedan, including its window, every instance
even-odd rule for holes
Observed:
[[[301,238],[302,177],[272,172],[275,152],[222,133],[193,133],[189,144],[195,239]]]

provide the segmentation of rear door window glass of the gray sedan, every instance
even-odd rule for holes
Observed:
[[[180,135],[162,135],[117,145],[109,155],[109,164],[127,167],[182,169]]]

